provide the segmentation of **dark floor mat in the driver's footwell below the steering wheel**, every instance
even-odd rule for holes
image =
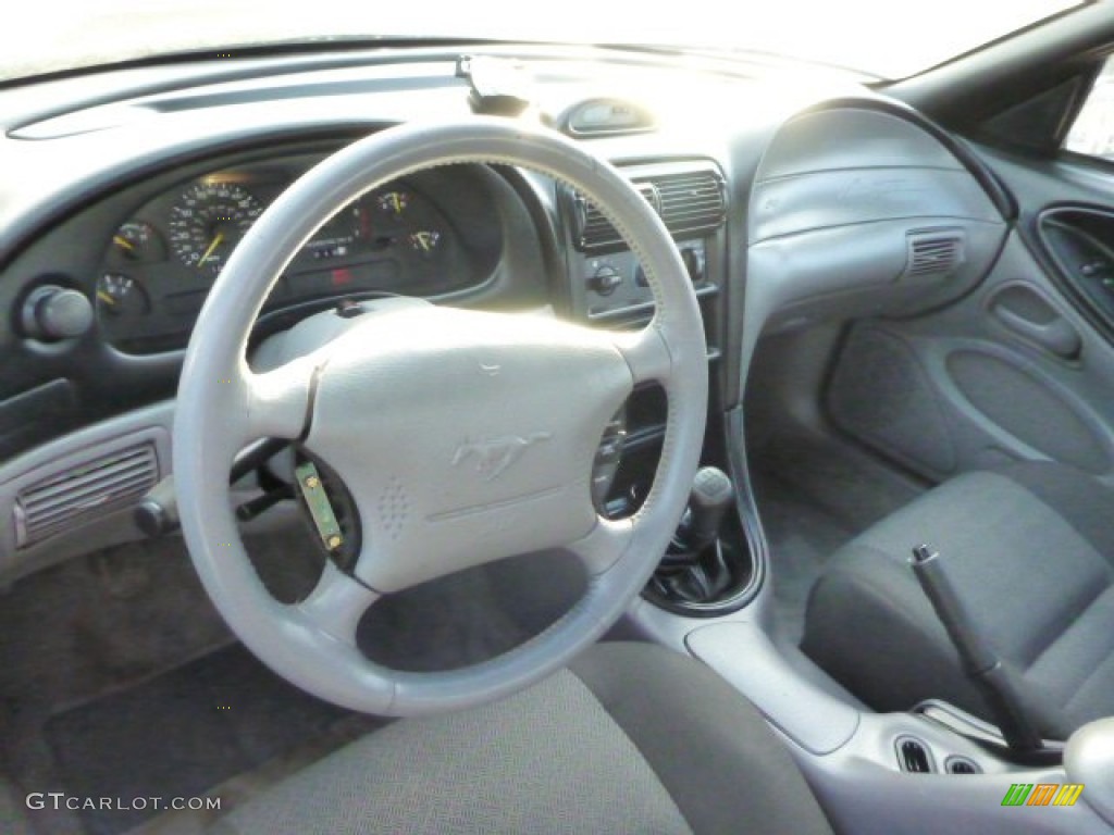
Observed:
[[[133,798],[202,795],[349,716],[234,646],[58,714],[45,730],[69,795],[128,806]],[[377,720],[368,723],[370,730]],[[79,812],[91,835],[117,835],[155,814]]]

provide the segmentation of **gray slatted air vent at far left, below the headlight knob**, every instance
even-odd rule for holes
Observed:
[[[153,444],[129,446],[39,481],[16,495],[16,543],[40,542],[94,515],[119,509],[158,481]]]

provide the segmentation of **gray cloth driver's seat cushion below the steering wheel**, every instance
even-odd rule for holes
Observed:
[[[296,833],[830,833],[785,747],[704,665],[604,644],[494,705],[388,726],[216,825]]]

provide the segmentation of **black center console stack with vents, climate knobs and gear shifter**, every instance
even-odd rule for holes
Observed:
[[[752,551],[740,521],[730,481],[716,507],[709,504],[710,473],[727,468],[717,439],[723,436],[719,360],[723,345],[726,275],[727,195],[723,174],[707,159],[673,159],[625,166],[622,171],[673,235],[704,318],[710,367],[709,432],[703,479],[693,485],[677,538],[644,596],[661,608],[701,617],[721,615],[745,602],[754,576]],[[638,258],[610,222],[584,195],[559,195],[566,232],[568,306],[593,326],[637,328],[654,314],[653,293]],[[608,425],[593,473],[597,510],[617,519],[641,507],[653,483],[665,433],[667,402],[658,386],[637,389]],[[722,472],[719,479],[726,480]],[[713,491],[714,492],[714,491]],[[729,505],[731,505],[729,508]],[[734,512],[729,512],[734,511]],[[701,529],[700,536],[694,531]],[[698,541],[697,541],[698,540]]]

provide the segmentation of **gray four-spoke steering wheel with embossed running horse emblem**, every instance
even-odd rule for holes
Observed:
[[[385,183],[463,163],[534,169],[598,205],[643,265],[653,321],[613,333],[535,315],[372,303],[331,342],[265,373],[248,367],[247,338],[263,301],[321,224]],[[668,399],[654,484],[634,515],[608,520],[592,501],[593,461],[616,410],[649,381]],[[390,128],[284,191],[208,294],[174,420],[182,528],[216,608],[287,680],[379,715],[467,707],[564,666],[638,595],[684,510],[706,403],[692,285],[664,224],[615,168],[554,131],[505,119]],[[325,462],[362,524],[352,567],[329,561],[297,603],[266,591],[229,507],[232,462],[264,438],[297,439]],[[356,625],[382,596],[558,547],[583,564],[584,595],[519,647],[443,672],[388,669],[356,648]]]

